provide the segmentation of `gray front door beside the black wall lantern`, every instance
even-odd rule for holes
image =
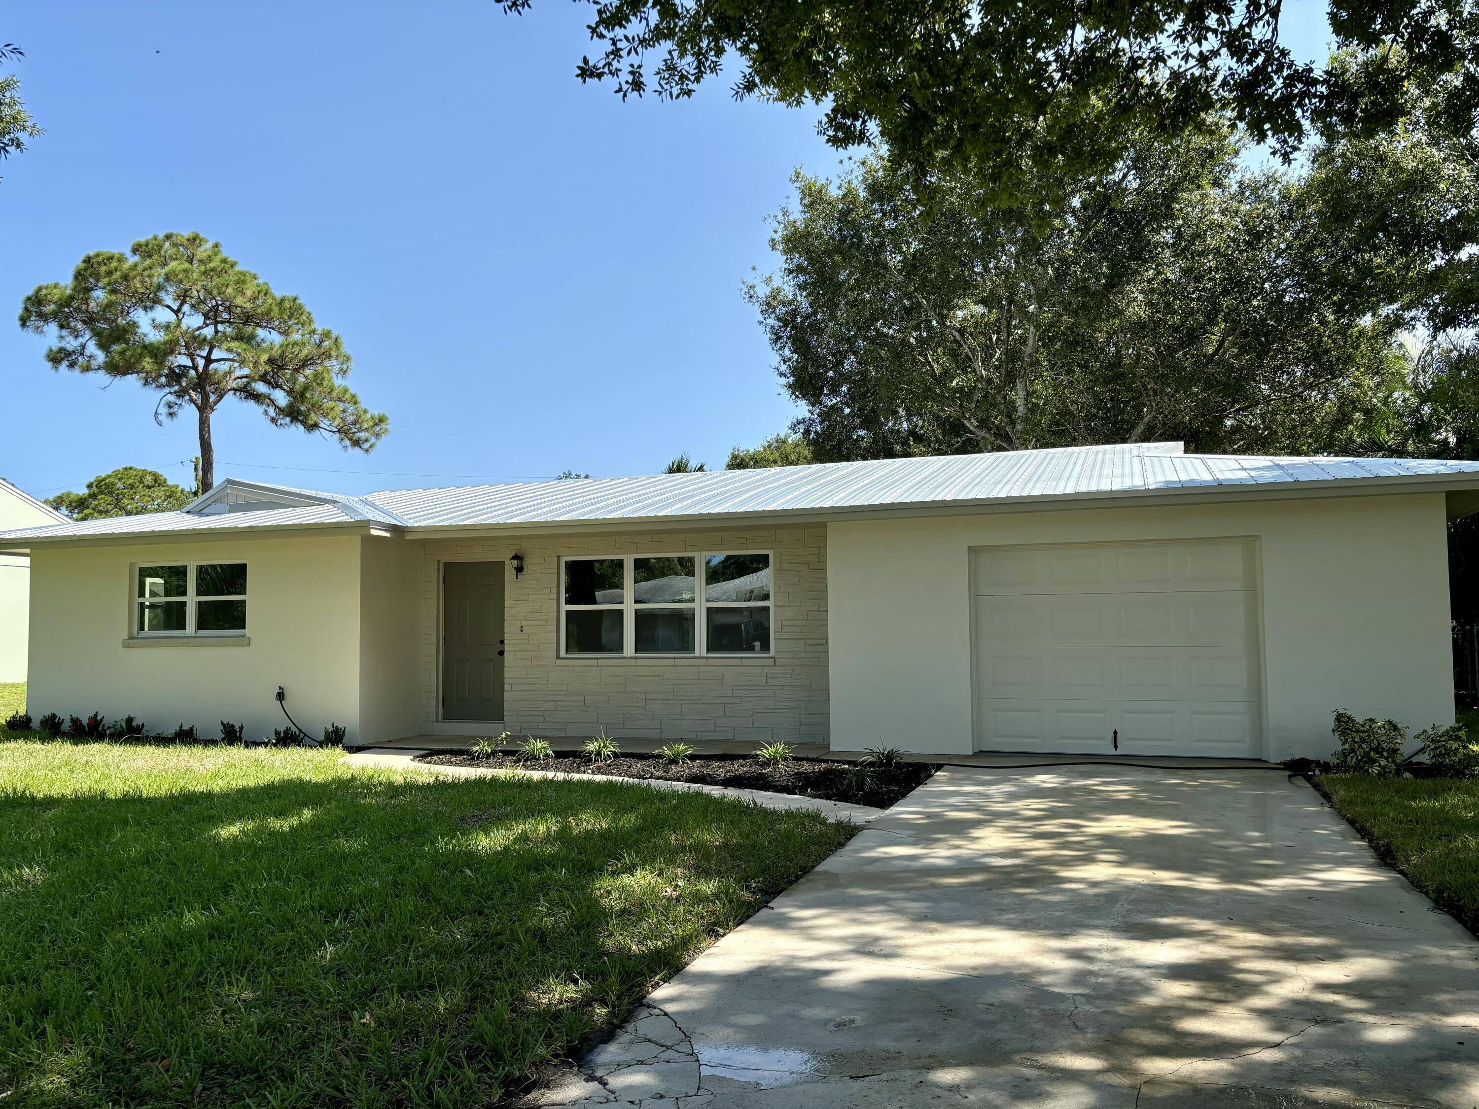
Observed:
[[[503,719],[503,563],[442,566],[442,720]]]

